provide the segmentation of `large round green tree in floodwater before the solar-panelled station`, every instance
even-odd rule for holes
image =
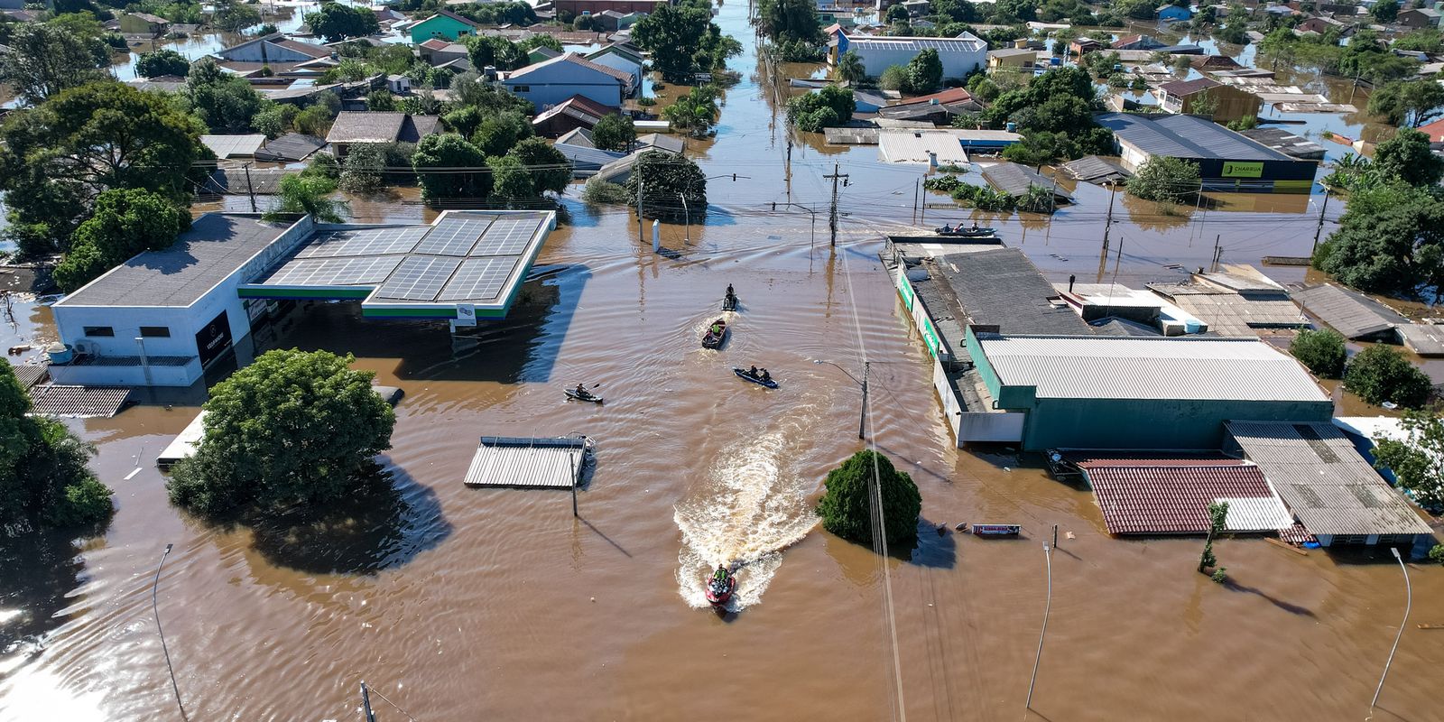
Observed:
[[[270,514],[354,492],[396,414],[355,357],[269,351],[211,388],[205,435],[166,488],[191,511]]]

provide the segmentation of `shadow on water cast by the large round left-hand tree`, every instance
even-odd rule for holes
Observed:
[[[267,562],[308,573],[368,575],[409,563],[452,533],[430,487],[388,468],[367,488],[321,513],[254,524],[254,547]]]

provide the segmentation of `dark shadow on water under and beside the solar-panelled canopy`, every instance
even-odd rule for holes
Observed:
[[[399,358],[401,381],[547,381],[588,279],[585,266],[537,266],[507,318],[456,338],[445,321],[367,319],[357,303],[303,303],[269,347]]]

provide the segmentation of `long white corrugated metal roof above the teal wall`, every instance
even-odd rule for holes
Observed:
[[[1035,386],[1038,399],[1330,403],[1298,361],[1256,339],[999,334],[978,339],[1004,386]]]

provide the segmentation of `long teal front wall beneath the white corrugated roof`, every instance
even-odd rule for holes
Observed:
[[[1038,399],[1022,446],[1080,449],[1217,449],[1223,422],[1328,422],[1333,401],[1199,401]]]

